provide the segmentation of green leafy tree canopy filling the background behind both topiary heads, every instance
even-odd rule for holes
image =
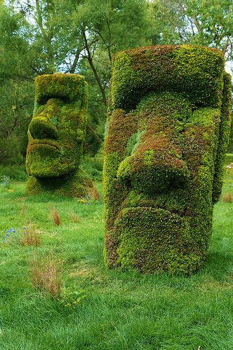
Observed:
[[[143,45],[191,43],[220,48],[232,60],[232,7],[231,0],[0,1],[0,88],[6,92],[0,96],[0,148],[18,135],[26,138],[35,76],[60,71],[88,81],[85,148],[95,154],[103,140],[113,55]],[[16,123],[15,91],[23,106]]]

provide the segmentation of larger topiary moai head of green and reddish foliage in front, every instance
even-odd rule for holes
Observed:
[[[230,96],[218,50],[159,45],[114,57],[104,166],[109,267],[201,267],[222,186]]]

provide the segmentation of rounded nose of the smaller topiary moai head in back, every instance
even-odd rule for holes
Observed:
[[[29,132],[33,139],[58,139],[58,129],[46,117],[33,118]]]

